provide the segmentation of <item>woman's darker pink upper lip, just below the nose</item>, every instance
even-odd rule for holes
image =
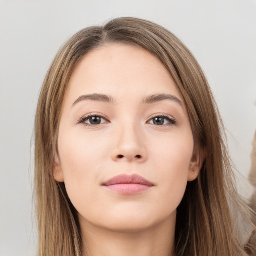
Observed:
[[[110,186],[114,184],[141,184],[146,186],[153,186],[154,184],[138,174],[120,174],[102,183],[104,186]]]

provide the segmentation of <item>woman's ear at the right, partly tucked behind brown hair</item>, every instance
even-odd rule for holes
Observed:
[[[204,155],[200,150],[194,149],[192,158],[190,160],[187,181],[193,181],[197,178],[202,167]]]

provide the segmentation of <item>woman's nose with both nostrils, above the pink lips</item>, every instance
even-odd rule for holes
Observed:
[[[145,139],[135,125],[119,127],[115,131],[115,142],[111,152],[114,161],[144,162],[147,159]]]

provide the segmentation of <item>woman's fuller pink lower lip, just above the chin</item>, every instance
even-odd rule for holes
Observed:
[[[113,185],[108,185],[104,187],[106,189],[109,189],[119,194],[138,194],[138,193],[149,190],[152,186],[131,183],[131,184],[113,184]]]

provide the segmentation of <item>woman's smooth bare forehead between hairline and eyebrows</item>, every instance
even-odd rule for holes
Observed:
[[[136,97],[171,93],[182,100],[162,62],[136,45],[112,43],[93,49],[76,65],[66,96],[103,93]]]

